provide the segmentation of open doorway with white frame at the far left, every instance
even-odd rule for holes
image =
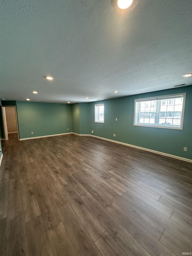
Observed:
[[[8,140],[8,134],[17,133],[19,139],[19,131],[17,125],[16,106],[1,107],[4,127],[4,140]]]

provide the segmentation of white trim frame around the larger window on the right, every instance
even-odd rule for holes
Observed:
[[[171,126],[158,126],[158,125],[143,125],[143,124],[135,124],[135,106],[136,101],[146,101],[146,100],[159,100],[159,99],[167,99],[167,98],[176,98],[179,96],[183,96],[183,107],[182,107],[182,117],[181,117],[181,127],[171,127]],[[184,109],[185,109],[185,98],[186,92],[184,93],[177,93],[177,94],[170,94],[170,95],[163,95],[163,96],[156,96],[156,97],[149,97],[149,98],[140,98],[135,99],[134,101],[134,126],[142,126],[142,127],[151,127],[151,128],[165,128],[165,129],[174,129],[174,130],[182,130],[183,129],[183,120],[184,120]]]

